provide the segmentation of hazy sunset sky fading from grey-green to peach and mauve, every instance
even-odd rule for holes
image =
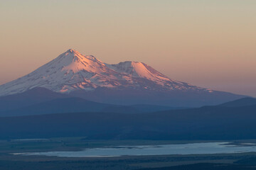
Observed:
[[[255,0],[0,0],[0,84],[69,48],[256,96]]]

